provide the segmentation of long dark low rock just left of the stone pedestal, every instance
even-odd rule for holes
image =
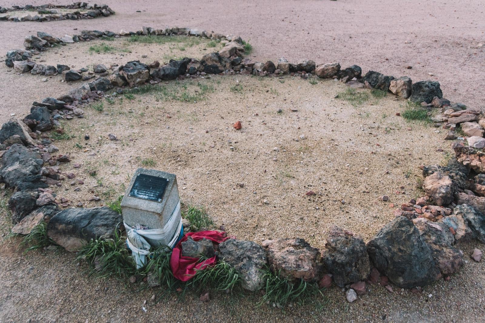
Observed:
[[[106,207],[71,208],[54,215],[47,232],[54,242],[75,252],[91,239],[113,238],[120,224],[123,224],[121,214]]]

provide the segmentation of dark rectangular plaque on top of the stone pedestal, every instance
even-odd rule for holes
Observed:
[[[168,178],[138,174],[128,195],[145,200],[162,202],[162,197],[168,182]]]

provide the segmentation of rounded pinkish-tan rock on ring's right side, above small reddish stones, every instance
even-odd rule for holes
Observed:
[[[441,172],[424,179],[422,189],[424,193],[431,197],[436,205],[448,205],[453,201],[453,194],[456,191],[451,178]]]

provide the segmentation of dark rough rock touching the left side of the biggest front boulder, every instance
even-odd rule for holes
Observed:
[[[344,287],[369,276],[371,265],[365,242],[333,226],[325,244],[322,262],[333,274],[335,283]]]

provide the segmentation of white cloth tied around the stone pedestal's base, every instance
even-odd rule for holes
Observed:
[[[180,230],[182,229],[182,218],[177,216],[179,213],[180,201],[178,201],[177,207],[172,212],[168,222],[160,229],[136,229],[123,222],[128,236],[126,242],[131,250],[131,254],[135,257],[137,269],[145,266],[146,256],[150,253],[151,245],[145,238],[153,240],[167,240],[167,238],[172,238],[167,246],[170,248],[175,246],[180,235]]]

